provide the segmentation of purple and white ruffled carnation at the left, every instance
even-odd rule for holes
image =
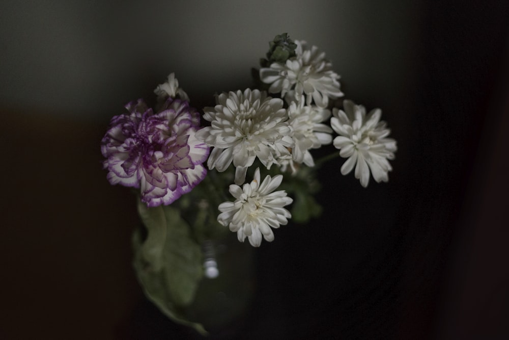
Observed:
[[[196,139],[200,115],[187,101],[168,99],[154,114],[145,102],[127,104],[102,139],[111,184],[140,188],[148,206],[170,204],[205,177],[209,147]]]

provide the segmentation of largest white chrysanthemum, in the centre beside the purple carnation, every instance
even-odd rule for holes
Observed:
[[[203,117],[211,126],[196,133],[197,138],[214,147],[207,161],[209,169],[222,172],[233,162],[235,184],[241,185],[256,158],[270,168],[275,161],[271,153],[274,145],[293,147],[281,99],[246,89],[222,93],[217,102],[214,108],[204,109]]]

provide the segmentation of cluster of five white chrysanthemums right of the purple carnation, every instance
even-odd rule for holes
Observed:
[[[365,115],[362,106],[344,101],[344,110],[328,109],[329,98],[343,96],[332,64],[318,47],[295,41],[295,55],[285,62],[272,62],[260,69],[260,80],[269,85],[270,97],[258,89],[222,93],[216,106],[204,108],[203,118],[210,122],[196,138],[212,147],[207,166],[219,172],[233,163],[235,185],[230,186],[234,202],[219,205],[218,221],[260,246],[262,236],[274,239],[270,227],[286,224],[291,214],[283,206],[292,202],[286,192],[273,192],[282,176],[265,177],[260,184],[260,169],[250,184],[247,169],[258,161],[267,169],[275,165],[282,172],[296,174],[302,164],[313,167],[311,149],[333,143],[340,155],[348,158],[342,174],[355,167],[355,177],[366,187],[370,170],[377,182],[388,180],[396,142],[387,138],[389,129],[380,121],[381,111]],[[330,124],[327,120],[330,119]],[[332,133],[338,136],[334,138]],[[243,186],[242,186],[243,185]],[[241,187],[242,186],[242,187]]]

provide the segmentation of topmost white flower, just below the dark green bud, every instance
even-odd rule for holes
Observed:
[[[343,95],[340,90],[340,76],[332,70],[332,64],[325,59],[325,53],[317,46],[308,47],[305,41],[295,41],[295,57],[285,64],[274,62],[270,67],[260,69],[260,79],[270,84],[269,93],[281,92],[294,100],[306,95],[307,104],[313,99],[318,107],[326,108],[329,98]]]

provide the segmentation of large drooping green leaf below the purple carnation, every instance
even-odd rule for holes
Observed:
[[[140,231],[134,233],[133,265],[145,295],[173,321],[205,334],[185,313],[203,277],[202,250],[189,224],[171,206],[147,208],[138,202],[138,212],[148,234],[142,241]]]

